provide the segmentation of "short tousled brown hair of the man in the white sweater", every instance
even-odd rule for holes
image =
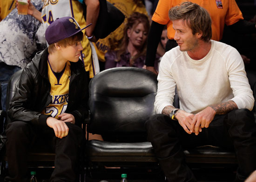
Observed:
[[[193,35],[202,32],[203,41],[208,42],[212,37],[211,17],[206,9],[195,3],[183,2],[180,6],[172,7],[169,10],[169,19],[186,21]]]

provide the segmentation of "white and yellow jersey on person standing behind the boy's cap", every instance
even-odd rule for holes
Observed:
[[[86,26],[86,22],[83,15],[82,4],[77,0],[44,0],[42,8],[42,23],[44,30],[54,22],[57,18],[70,16],[73,17],[81,28]],[[83,30],[85,33],[85,30]],[[98,58],[92,57],[92,49],[89,40],[86,36],[82,39],[83,50],[81,51],[81,60],[84,62],[85,70],[89,71],[90,78],[99,72],[97,70]],[[96,54],[96,53],[95,53]]]

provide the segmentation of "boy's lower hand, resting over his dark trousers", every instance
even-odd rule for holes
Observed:
[[[56,137],[63,138],[67,136],[69,129],[64,121],[55,119],[54,117],[48,117],[46,123],[50,128],[54,129]]]

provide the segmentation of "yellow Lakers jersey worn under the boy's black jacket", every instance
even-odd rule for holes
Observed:
[[[52,102],[42,111],[42,114],[51,115],[56,119],[67,109],[69,81],[70,81],[70,62],[67,61],[62,75],[57,78],[48,61],[48,78],[51,84],[50,95]]]

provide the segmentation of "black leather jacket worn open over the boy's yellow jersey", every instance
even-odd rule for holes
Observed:
[[[33,125],[46,125],[49,115],[41,114],[51,102],[51,84],[48,79],[47,58],[45,49],[38,52],[32,62],[27,64],[21,73],[17,92],[12,98],[8,115],[11,121],[31,122]],[[81,125],[88,114],[88,77],[81,60],[70,62],[71,77],[66,113],[75,117],[75,124]]]

